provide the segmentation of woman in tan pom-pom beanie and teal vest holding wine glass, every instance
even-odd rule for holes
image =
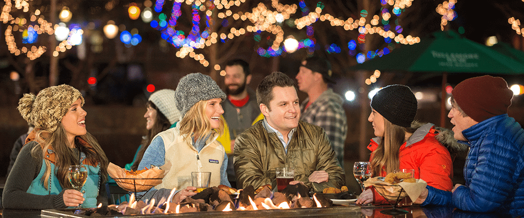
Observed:
[[[22,117],[35,125],[21,148],[4,187],[4,207],[58,209],[97,205],[100,184],[107,178],[108,160],[100,144],[85,129],[86,112],[80,91],[51,86],[18,102]],[[88,179],[82,192],[68,179],[70,165],[84,165]]]

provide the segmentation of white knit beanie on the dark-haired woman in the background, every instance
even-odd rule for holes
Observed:
[[[155,91],[149,100],[157,106],[158,110],[166,116],[169,123],[173,124],[180,120],[180,111],[177,109],[176,100],[174,100],[173,89],[161,89]]]

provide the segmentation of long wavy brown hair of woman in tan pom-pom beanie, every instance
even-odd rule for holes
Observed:
[[[79,139],[82,139],[92,148],[83,146],[80,143]],[[46,164],[46,171],[44,176],[41,178],[44,187],[49,189],[49,178],[51,177],[51,162],[45,158],[47,150],[52,148],[54,152],[54,170],[56,172],[56,177],[60,182],[60,186],[67,189],[72,189],[71,183],[68,179],[68,168],[70,165],[78,165],[79,155],[74,152],[73,148],[69,147],[69,142],[67,139],[67,134],[65,129],[60,123],[57,127],[57,130],[53,133],[40,129],[36,132],[35,141],[42,146],[35,146],[31,150],[31,155],[36,158],[42,158]],[[74,138],[74,144],[79,149],[80,152],[83,152],[86,156],[88,162],[97,163],[100,166],[100,184],[104,183],[107,180],[107,166],[109,165],[109,160],[105,155],[102,147],[96,141],[95,137],[89,132],[85,135],[76,136]]]

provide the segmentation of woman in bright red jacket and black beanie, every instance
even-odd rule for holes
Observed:
[[[453,136],[440,134],[431,123],[413,121],[417,99],[411,89],[403,85],[384,87],[373,97],[371,107],[368,121],[373,123],[377,136],[368,146],[372,151],[369,162],[373,177],[386,176],[397,169],[414,169],[416,179],[451,191],[453,165],[449,151],[441,142]],[[365,190],[356,203],[372,202],[388,203],[373,187]]]

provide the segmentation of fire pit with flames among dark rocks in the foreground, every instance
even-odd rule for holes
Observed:
[[[255,192],[247,187],[239,194],[229,193],[229,188],[212,187],[203,190],[180,204],[166,202],[166,198],[155,203],[135,201],[120,205],[99,205],[90,209],[42,210],[42,217],[299,217],[314,214],[325,217],[359,217],[359,206],[332,206],[332,201],[321,195],[309,196],[303,185],[290,185],[281,192],[271,192],[271,187],[260,187]],[[171,193],[174,193],[174,191]],[[171,196],[167,199],[171,199]],[[303,196],[303,197],[302,197]],[[157,206],[155,206],[157,205]]]

